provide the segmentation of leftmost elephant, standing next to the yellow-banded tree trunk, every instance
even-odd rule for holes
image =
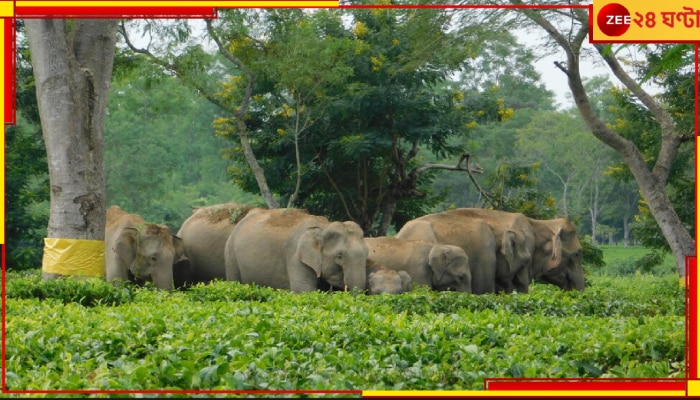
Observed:
[[[179,237],[161,224],[147,224],[138,214],[113,205],[105,225],[105,273],[108,282],[152,281],[173,289],[173,271],[187,271],[189,259]]]

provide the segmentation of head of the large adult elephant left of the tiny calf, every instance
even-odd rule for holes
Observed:
[[[352,221],[307,228],[297,245],[299,260],[337,288],[366,289],[367,253],[362,228]]]

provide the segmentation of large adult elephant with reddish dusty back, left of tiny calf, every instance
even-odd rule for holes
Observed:
[[[366,289],[367,245],[352,221],[329,222],[297,209],[250,210],[224,250],[226,279],[293,292],[318,281]]]

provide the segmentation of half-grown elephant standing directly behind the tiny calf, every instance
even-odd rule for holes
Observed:
[[[395,237],[365,238],[369,258],[435,290],[472,292],[469,257],[457,246]]]

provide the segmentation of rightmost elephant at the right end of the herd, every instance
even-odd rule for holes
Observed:
[[[584,290],[583,248],[574,225],[566,218],[528,218],[535,238],[532,279],[563,290]]]

